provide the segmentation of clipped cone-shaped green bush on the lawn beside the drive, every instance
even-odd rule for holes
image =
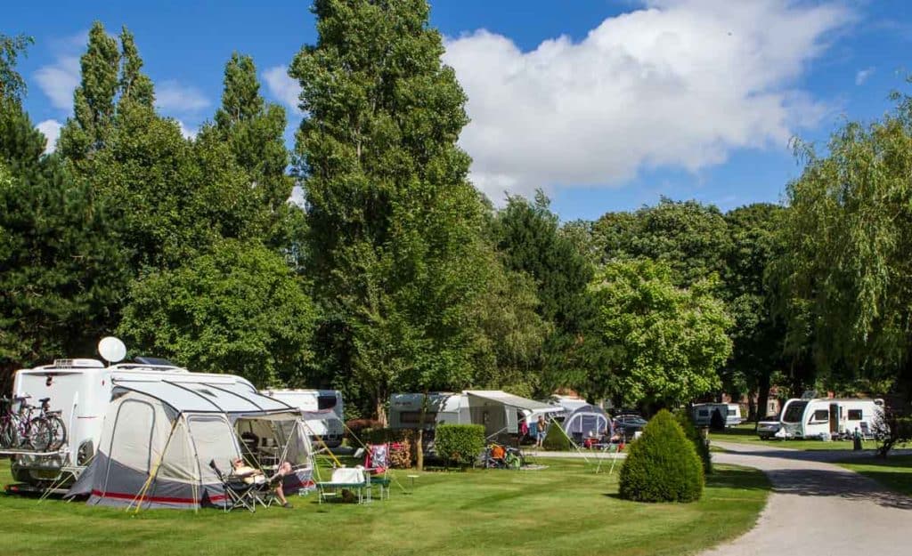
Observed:
[[[691,502],[703,493],[703,466],[693,443],[668,411],[659,411],[627,448],[620,496],[641,502]]]

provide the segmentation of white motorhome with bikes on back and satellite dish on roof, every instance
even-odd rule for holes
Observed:
[[[50,409],[61,412],[67,439],[53,453],[35,454],[18,448],[0,450],[0,455],[12,457],[14,479],[37,484],[58,479],[67,468],[85,467],[98,449],[111,389],[148,382],[168,382],[203,396],[206,387],[221,392],[229,391],[231,386],[244,386],[255,392],[254,386],[240,376],[191,373],[152,357],[138,357],[136,363],[111,366],[96,359],[62,359],[53,365],[21,369],[14,378],[14,396],[29,396],[26,402],[33,406],[41,398],[50,398]],[[201,386],[205,387],[201,389]]]

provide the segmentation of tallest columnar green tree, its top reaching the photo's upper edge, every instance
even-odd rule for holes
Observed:
[[[425,0],[317,0],[289,75],[316,296],[381,420],[394,388],[472,380],[482,202],[456,141],[465,94]],[[318,333],[322,334],[322,333]],[[338,357],[336,357],[338,359]]]

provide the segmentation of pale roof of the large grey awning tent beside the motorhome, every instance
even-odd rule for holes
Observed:
[[[294,410],[271,397],[261,396],[244,385],[130,381],[119,382],[115,386],[154,397],[180,412],[262,415]]]

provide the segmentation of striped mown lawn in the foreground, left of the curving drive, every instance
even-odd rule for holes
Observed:
[[[581,460],[537,471],[428,472],[412,494],[362,506],[293,497],[294,510],[124,510],[0,494],[0,553],[253,556],[255,554],[688,554],[751,529],[769,483],[717,466],[699,502],[617,498],[615,473]],[[407,472],[397,477],[409,488]],[[8,483],[0,461],[0,484]]]

